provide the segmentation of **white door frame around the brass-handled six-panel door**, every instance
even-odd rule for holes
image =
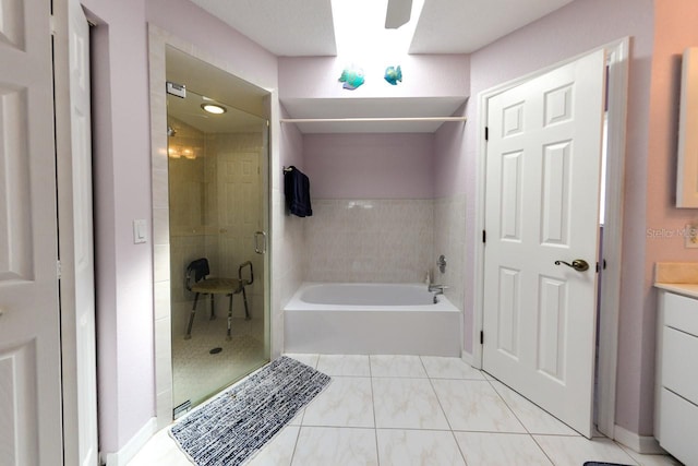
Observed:
[[[617,335],[621,301],[621,260],[623,246],[623,198],[625,178],[625,139],[629,68],[629,37],[597,47],[585,53],[571,57],[532,73],[491,87],[478,95],[478,144],[477,144],[477,189],[476,205],[476,251],[474,251],[474,308],[472,326],[472,361],[482,368],[482,345],[480,332],[484,321],[484,243],[479,231],[485,226],[485,157],[488,145],[484,139],[488,122],[489,99],[497,94],[516,87],[531,79],[543,75],[556,68],[571,63],[578,58],[597,50],[605,50],[609,56],[609,75],[606,84],[607,99],[607,145],[605,180],[605,220],[603,236],[603,260],[606,268],[599,278],[601,287],[599,312],[599,353],[597,367],[597,422],[598,430],[614,439],[616,403]]]

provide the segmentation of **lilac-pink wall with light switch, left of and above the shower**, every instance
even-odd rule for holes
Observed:
[[[147,21],[277,86],[276,57],[186,0],[83,0],[93,41],[100,451],[122,449],[155,416]]]

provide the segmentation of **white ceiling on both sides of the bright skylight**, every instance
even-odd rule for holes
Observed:
[[[336,55],[332,0],[192,1],[277,56]],[[410,52],[470,53],[571,1],[425,0]]]

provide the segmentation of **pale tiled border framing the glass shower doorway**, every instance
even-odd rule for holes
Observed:
[[[155,399],[156,418],[152,422],[153,432],[163,429],[172,421],[172,367],[171,367],[171,319],[170,319],[170,244],[169,244],[169,186],[168,186],[168,155],[167,155],[167,96],[166,96],[166,49],[173,47],[186,52],[191,57],[216,67],[232,76],[240,77],[240,70],[231,67],[227,61],[197,49],[191,43],[180,39],[176,35],[148,24],[149,50],[149,91],[151,91],[151,151],[152,151],[152,190],[153,190],[153,263],[154,263],[154,331],[155,331]],[[244,79],[248,83],[267,93],[265,106],[267,121],[274,122],[268,127],[266,135],[267,156],[264,160],[266,168],[265,208],[262,213],[267,226],[267,236],[272,237],[273,210],[272,193],[277,189],[278,179],[272,176],[272,167],[278,165],[277,150],[273,145],[274,134],[278,130],[279,107],[277,89],[269,89],[260,83]],[[274,335],[282,334],[284,328],[276,328],[272,323],[274,307],[273,299],[278,296],[273,289],[270,280],[273,247],[266,250],[263,279],[265,338],[269,342],[269,357],[280,354],[276,347]]]

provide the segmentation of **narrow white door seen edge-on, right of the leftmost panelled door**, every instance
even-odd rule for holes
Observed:
[[[68,210],[59,207],[59,216],[69,212],[69,225],[64,235],[70,239],[61,239],[61,263],[72,265],[72,276],[61,279],[61,306],[68,304],[74,312],[63,309],[63,315],[71,315],[68,342],[75,342],[74,372],[65,365],[64,396],[71,396],[76,409],[70,418],[77,425],[71,428],[68,435],[76,434],[76,447],[80,466],[95,466],[99,463],[97,443],[97,361],[95,349],[95,285],[94,285],[94,250],[93,250],[93,204],[92,204],[92,138],[91,138],[91,103],[89,103],[89,26],[79,0],[69,0],[68,36],[69,36],[69,72],[70,72],[70,165],[71,182],[68,191],[59,186],[59,193],[67,194]],[[59,183],[61,182],[59,178]],[[63,205],[62,203],[59,204]],[[61,219],[61,226],[65,224]],[[63,247],[70,243],[70,248]],[[70,258],[65,254],[70,253]],[[64,267],[65,268],[65,267]],[[72,311],[71,309],[71,311]],[[74,335],[72,334],[74,332]],[[63,344],[67,350],[69,345]],[[72,348],[71,348],[72,350]],[[67,355],[64,360],[68,360]],[[73,360],[73,359],[71,359]],[[70,379],[70,380],[68,380]],[[68,414],[64,416],[69,419]],[[68,451],[67,445],[67,453]],[[71,454],[73,452],[70,452]],[[67,455],[67,462],[73,461]]]

